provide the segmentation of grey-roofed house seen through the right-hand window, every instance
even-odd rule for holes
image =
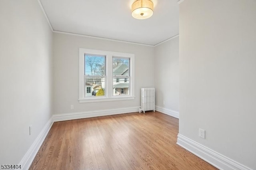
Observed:
[[[128,95],[129,94],[129,80],[125,76],[129,76],[129,67],[121,64],[113,69],[113,94],[114,95]]]

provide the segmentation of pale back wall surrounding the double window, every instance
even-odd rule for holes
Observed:
[[[79,48],[134,53],[135,99],[79,103]],[[154,47],[54,33],[54,114],[139,107],[142,87],[154,87]]]

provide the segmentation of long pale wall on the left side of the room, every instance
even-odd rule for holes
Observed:
[[[0,164],[19,164],[52,116],[51,58],[52,31],[38,2],[1,0]]]

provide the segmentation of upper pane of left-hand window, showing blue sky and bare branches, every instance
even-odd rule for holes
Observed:
[[[106,56],[84,55],[84,75],[105,75]]]

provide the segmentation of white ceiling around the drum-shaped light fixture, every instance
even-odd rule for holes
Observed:
[[[132,18],[134,0],[40,0],[54,31],[156,45],[179,34],[178,0],[152,0],[154,14]]]

